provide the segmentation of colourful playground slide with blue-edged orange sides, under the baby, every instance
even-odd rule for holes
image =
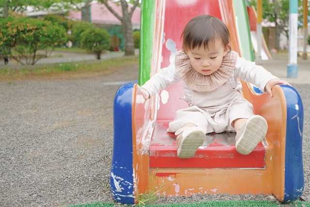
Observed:
[[[181,49],[181,32],[194,16],[217,16],[229,28],[232,48],[253,61],[247,7],[243,0],[144,0],[140,30],[139,85],[171,64]],[[242,82],[254,113],[268,122],[266,141],[249,155],[235,150],[235,133],[207,134],[195,156],[176,156],[174,134],[167,133],[177,110],[186,108],[180,83],[145,101],[138,84],[123,85],[114,100],[111,191],[120,203],[137,203],[147,188],[162,196],[193,193],[274,194],[298,199],[304,190],[303,105],[294,88],[273,87],[273,97]]]

